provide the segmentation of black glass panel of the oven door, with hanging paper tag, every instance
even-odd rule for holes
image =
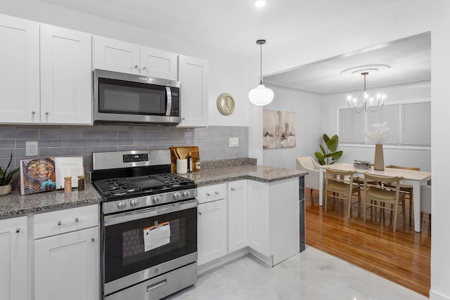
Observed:
[[[105,282],[197,251],[197,208],[105,226]]]

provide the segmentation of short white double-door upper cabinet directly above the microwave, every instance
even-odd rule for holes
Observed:
[[[176,53],[107,37],[94,40],[96,69],[176,80],[176,57]]]

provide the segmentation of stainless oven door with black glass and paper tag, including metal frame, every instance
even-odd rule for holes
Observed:
[[[198,201],[103,217],[103,293],[197,261]]]

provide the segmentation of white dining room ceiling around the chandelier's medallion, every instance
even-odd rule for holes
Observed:
[[[366,76],[369,93],[371,87],[430,79],[430,32],[264,77],[264,82],[321,94],[362,90],[364,77],[361,73],[349,76],[341,72],[350,67],[373,64],[390,65],[390,68],[383,72],[369,72]]]

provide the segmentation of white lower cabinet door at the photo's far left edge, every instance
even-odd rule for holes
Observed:
[[[27,299],[27,217],[0,221],[0,299]]]

